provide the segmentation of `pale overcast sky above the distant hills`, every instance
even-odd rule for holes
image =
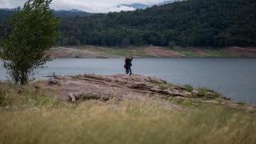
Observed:
[[[0,8],[23,6],[26,0],[0,0]],[[118,4],[143,3],[153,5],[163,0],[53,0],[51,8],[56,10],[78,9],[88,12],[106,12]]]

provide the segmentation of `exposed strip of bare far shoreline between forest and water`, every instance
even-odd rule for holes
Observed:
[[[256,58],[254,47],[213,48],[140,46],[58,46],[47,51],[51,58]]]

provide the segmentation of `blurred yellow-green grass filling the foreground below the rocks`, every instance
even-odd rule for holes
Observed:
[[[256,143],[256,115],[214,105],[61,102],[0,84],[0,143]]]

